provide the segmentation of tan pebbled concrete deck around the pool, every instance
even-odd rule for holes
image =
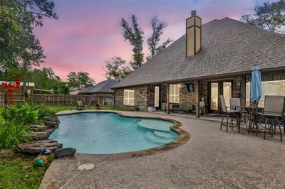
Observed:
[[[238,133],[235,128],[220,131],[217,121],[147,112],[120,114],[175,119],[190,133],[190,140],[148,156],[106,159],[76,154],[56,159],[40,188],[60,188],[78,173],[79,161],[105,163],[82,172],[64,188],[285,188],[285,143],[278,135],[264,140],[262,134]]]

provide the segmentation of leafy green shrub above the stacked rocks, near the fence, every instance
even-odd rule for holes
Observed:
[[[38,118],[38,109],[33,104],[23,103],[7,107],[7,120],[19,121],[24,125],[41,124],[42,120]]]

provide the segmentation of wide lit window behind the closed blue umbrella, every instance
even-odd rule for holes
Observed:
[[[262,97],[259,107],[264,107],[265,95],[285,95],[285,80],[262,82]],[[250,105],[250,82],[246,85],[247,106]]]

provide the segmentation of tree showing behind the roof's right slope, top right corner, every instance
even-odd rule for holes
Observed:
[[[242,21],[273,32],[282,32],[285,26],[285,0],[266,2],[254,8],[255,13],[242,16]],[[283,31],[284,32],[284,31]]]

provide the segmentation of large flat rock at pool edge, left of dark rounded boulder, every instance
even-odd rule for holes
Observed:
[[[24,153],[41,153],[44,148],[49,148],[51,151],[61,148],[62,144],[56,140],[41,140],[33,141],[33,143],[24,143],[19,145],[19,151]]]

